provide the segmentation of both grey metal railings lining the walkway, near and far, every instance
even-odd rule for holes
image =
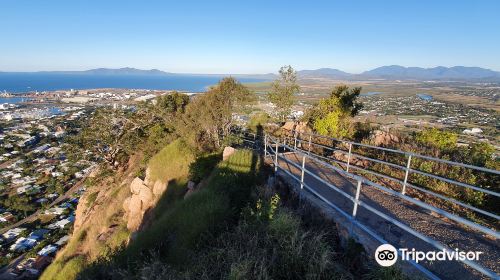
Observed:
[[[474,170],[478,170],[478,171],[482,171],[482,172],[489,172],[489,173],[492,173],[492,174],[495,174],[495,175],[498,175],[500,174],[499,171],[497,170],[491,170],[491,169],[487,169],[487,168],[482,168],[482,167],[477,167],[477,166],[472,166],[472,165],[468,165],[468,164],[463,164],[463,163],[458,163],[458,162],[452,162],[452,161],[448,161],[448,160],[442,160],[442,159],[438,159],[438,158],[433,158],[433,157],[428,157],[428,156],[424,156],[424,155],[419,155],[419,154],[415,154],[415,153],[408,153],[408,152],[403,152],[403,151],[398,151],[398,150],[393,150],[393,149],[387,149],[387,148],[382,148],[382,147],[376,147],[376,146],[370,146],[370,145],[366,145],[366,144],[361,144],[361,143],[355,143],[355,142],[350,142],[350,141],[344,141],[344,140],[339,140],[339,139],[334,139],[334,138],[328,138],[329,140],[334,140],[334,141],[339,141],[339,142],[342,142],[344,144],[347,144],[348,145],[348,151],[343,151],[343,150],[340,150],[340,149],[336,149],[334,147],[329,147],[329,146],[326,146],[326,145],[323,145],[323,144],[318,144],[318,143],[314,143],[312,141],[312,138],[313,137],[324,137],[324,136],[318,136],[318,135],[312,135],[312,134],[302,134],[302,135],[306,135],[308,136],[307,140],[304,140],[304,139],[301,139],[300,137],[300,134],[297,133],[297,132],[293,132],[293,138],[289,138],[289,137],[283,137],[282,139],[278,139],[276,137],[273,137],[271,135],[268,135],[268,134],[265,134],[264,135],[264,139],[263,139],[263,143],[260,142],[261,144],[263,144],[261,147],[263,147],[264,149],[264,156],[266,158],[272,158],[273,159],[273,163],[274,163],[274,170],[277,172],[278,169],[279,170],[282,170],[283,172],[285,172],[286,174],[288,174],[289,176],[291,176],[293,179],[297,180],[299,183],[300,183],[300,191],[304,191],[304,190],[307,190],[309,191],[310,193],[312,193],[313,195],[315,195],[316,197],[318,197],[319,199],[321,199],[322,201],[324,201],[326,204],[328,204],[330,207],[334,208],[336,211],[338,211],[341,215],[343,215],[344,217],[346,217],[348,220],[350,220],[350,222],[352,223],[353,226],[356,226],[358,228],[360,228],[361,230],[363,230],[364,232],[368,233],[370,236],[372,236],[374,239],[376,239],[377,241],[381,242],[381,243],[390,243],[390,242],[387,242],[386,240],[384,240],[380,235],[378,235],[377,233],[375,233],[373,230],[371,230],[369,227],[367,227],[366,225],[363,225],[362,223],[360,223],[359,221],[356,220],[356,214],[357,214],[357,211],[358,211],[358,207],[363,207],[364,209],[370,211],[371,213],[383,218],[384,220],[394,224],[395,226],[401,228],[402,230],[406,231],[407,233],[413,235],[414,237],[420,239],[420,240],[423,240],[425,242],[427,242],[428,244],[430,244],[431,246],[437,248],[438,250],[446,250],[447,252],[452,252],[448,247],[442,245],[440,242],[438,242],[437,240],[429,237],[429,236],[426,236],[424,235],[423,233],[421,232],[418,232],[416,230],[414,230],[413,228],[409,227],[408,225],[406,225],[404,222],[400,221],[400,220],[397,220],[397,219],[394,219],[382,212],[380,212],[379,210],[375,209],[374,207],[370,206],[369,204],[367,204],[366,202],[362,201],[360,199],[360,194],[362,192],[362,186],[363,185],[367,185],[367,186],[371,186],[379,191],[383,191],[385,193],[389,193],[390,195],[394,196],[394,197],[398,197],[402,200],[405,200],[407,202],[410,202],[414,205],[417,205],[423,209],[427,209],[427,210],[430,210],[430,211],[433,211],[439,215],[442,215],[448,219],[451,219],[455,222],[457,222],[458,224],[460,225],[464,225],[464,226],[467,226],[467,227],[470,227],[472,229],[475,229],[479,232],[482,232],[484,234],[487,234],[489,236],[492,236],[496,239],[498,239],[500,237],[500,234],[495,231],[495,230],[492,230],[488,227],[485,227],[485,226],[482,226],[482,225],[479,225],[477,223],[474,223],[468,219],[465,219],[465,218],[462,218],[462,217],[459,217],[457,215],[454,215],[452,213],[449,213],[445,210],[442,210],[442,209],[439,209],[437,207],[434,207],[430,204],[427,204],[425,202],[422,202],[420,200],[417,200],[417,199],[414,199],[408,195],[406,195],[406,187],[411,187],[411,188],[415,188],[417,190],[420,190],[420,191],[423,191],[429,195],[433,195],[435,197],[438,197],[440,199],[444,199],[446,201],[449,201],[451,203],[456,203],[462,207],[466,207],[468,209],[471,209],[473,211],[476,211],[476,212],[479,212],[481,214],[484,214],[484,215],[487,215],[493,219],[496,219],[498,221],[499,219],[499,216],[494,214],[494,213],[490,213],[488,211],[485,211],[485,210],[481,210],[481,209],[478,209],[476,207],[473,207],[471,205],[468,205],[468,204],[465,204],[463,202],[460,202],[460,201],[457,201],[453,198],[449,198],[449,197],[446,197],[444,195],[441,195],[441,194],[437,194],[437,193],[434,193],[432,191],[429,191],[429,190],[426,190],[426,189],[423,189],[423,188],[420,188],[418,186],[415,186],[413,184],[410,184],[408,182],[408,176],[411,172],[414,172],[414,173],[418,173],[418,174],[421,174],[421,175],[424,175],[424,176],[429,176],[431,178],[434,178],[434,179],[438,179],[438,180],[442,180],[442,181],[445,181],[447,183],[453,183],[457,186],[460,186],[460,187],[464,187],[464,188],[469,188],[469,189],[472,189],[472,190],[475,190],[475,191],[480,191],[480,192],[484,192],[488,195],[493,195],[493,196],[496,196],[498,197],[499,194],[496,193],[496,192],[493,192],[493,191],[490,191],[490,190],[486,190],[486,189],[483,189],[483,188],[480,188],[480,187],[477,187],[477,186],[472,186],[472,185],[469,185],[469,184],[466,184],[466,183],[462,183],[462,182],[458,182],[458,181],[454,181],[452,179],[449,179],[449,178],[444,178],[442,176],[439,176],[439,175],[436,175],[436,174],[432,174],[432,173],[427,173],[427,172],[423,172],[423,171],[419,171],[419,170],[415,170],[415,169],[412,169],[411,168],[411,161],[412,161],[412,158],[422,158],[422,159],[426,159],[426,160],[431,160],[431,161],[436,161],[436,162],[440,162],[440,163],[445,163],[445,164],[450,164],[450,165],[454,165],[454,166],[460,166],[460,167],[464,167],[464,168],[470,168],[470,169],[474,169]],[[259,143],[259,138],[258,136],[255,136],[254,134],[247,134],[247,138],[248,138],[248,135],[253,135],[253,136],[250,136],[250,138],[253,138],[253,142],[254,145],[255,143]],[[245,138],[245,137],[244,137]],[[290,144],[287,144],[287,140],[289,141]],[[319,155],[319,154],[315,154],[313,151],[311,151],[311,148],[313,146],[319,146],[319,147],[322,147],[322,148],[325,148],[325,149],[330,149],[332,151],[342,151],[342,152],[345,152],[347,153],[347,161],[346,162],[343,162],[343,161],[338,161],[338,160],[335,160],[335,159],[332,159],[332,158],[327,158],[327,157],[324,157],[322,155]],[[369,157],[366,157],[366,156],[363,156],[363,155],[360,155],[360,154],[356,154],[353,152],[353,149],[352,147],[353,146],[362,146],[362,147],[367,147],[367,148],[372,148],[372,149],[377,149],[377,150],[380,150],[380,151],[385,151],[385,152],[394,152],[394,153],[399,153],[399,154],[403,154],[407,157],[407,164],[406,166],[401,166],[401,165],[397,165],[397,164],[394,164],[394,163],[390,163],[390,162],[385,162],[385,161],[382,161],[382,160],[379,160],[379,159],[373,159],[373,158],[369,158]],[[300,148],[301,147],[301,148]],[[303,149],[304,147],[307,147],[307,150]],[[291,151],[291,152],[294,152],[298,155],[301,155],[302,156],[302,162],[301,164],[298,164],[296,162],[293,162],[291,160],[288,160],[284,155],[283,153],[280,153],[280,149],[286,149],[288,151]],[[375,182],[372,182],[371,180],[368,180],[367,178],[363,177],[363,176],[359,176],[359,175],[356,175],[356,174],[353,174],[352,173],[352,169],[361,169],[361,167],[358,167],[358,166],[355,166],[353,164],[351,164],[351,160],[353,157],[360,157],[360,158],[363,158],[365,160],[370,160],[370,161],[373,161],[373,162],[376,162],[376,163],[380,163],[380,164],[386,164],[388,166],[391,166],[391,167],[395,167],[395,168],[400,168],[402,170],[404,170],[405,172],[405,176],[404,176],[404,180],[399,180],[399,179],[396,179],[396,178],[393,178],[393,177],[389,177],[389,176],[386,176],[384,174],[381,174],[381,173],[378,173],[378,172],[375,172],[375,171],[369,171],[368,173],[370,174],[373,174],[373,175],[377,175],[379,177],[383,177],[383,178],[387,178],[387,179],[391,179],[391,180],[395,180],[399,183],[402,184],[402,191],[401,192],[398,192],[398,191],[395,191],[391,188],[388,188],[388,187],[385,187],[385,186],[382,186],[380,184],[377,184]],[[341,190],[340,188],[332,185],[331,183],[323,180],[321,177],[317,176],[316,174],[314,174],[313,172],[311,172],[310,170],[308,170],[306,168],[306,165],[305,165],[305,161],[306,159],[308,160],[311,160],[311,161],[314,161],[316,163],[319,163],[327,168],[330,168],[338,173],[340,173],[341,175],[347,177],[347,178],[350,178],[354,181],[356,181],[356,192],[355,192],[355,195],[354,196],[351,196],[349,195],[348,193],[344,192],[343,190]],[[292,174],[290,171],[288,171],[287,169],[285,168],[282,168],[279,164],[280,161],[284,161],[296,168],[298,168],[300,170],[300,176],[295,176],[294,174]],[[340,167],[337,167],[337,166],[334,166],[333,164],[331,164],[330,162],[336,162],[340,165],[343,165],[345,166],[345,170],[340,168]],[[364,170],[366,171],[366,170]],[[315,178],[316,180],[322,182],[323,184],[325,184],[326,186],[328,186],[329,188],[331,188],[332,190],[335,190],[336,192],[338,192],[340,195],[342,195],[343,197],[347,198],[348,200],[352,201],[353,203],[353,208],[352,208],[352,213],[347,213],[345,212],[344,210],[342,210],[341,208],[339,208],[337,205],[335,205],[334,203],[332,203],[331,201],[329,201],[328,199],[326,199],[325,197],[323,197],[320,193],[318,193],[316,190],[314,190],[312,187],[308,186],[308,184],[304,181],[304,175],[305,174],[308,174],[309,176]],[[494,278],[494,279],[498,279],[498,275],[491,271],[490,269],[486,268],[486,267],[483,267],[482,265],[480,265],[479,263],[477,262],[474,262],[474,261],[470,261],[470,260],[461,260],[461,262],[463,262],[464,264],[474,268],[475,270],[481,272],[482,274],[488,276],[488,277],[491,277],[491,278]],[[426,269],[425,267],[421,266],[420,264],[417,264],[415,263],[414,261],[410,261],[410,263],[415,267],[417,268],[418,270],[420,270],[421,272],[423,272],[426,276],[428,276],[429,278],[431,279],[439,279],[436,275],[434,275],[432,272],[430,272],[428,269]]]

